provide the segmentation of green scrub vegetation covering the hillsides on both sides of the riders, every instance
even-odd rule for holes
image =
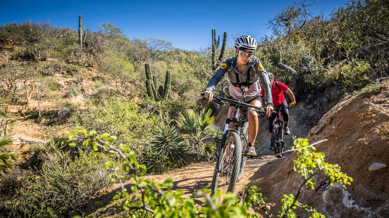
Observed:
[[[386,0],[350,0],[328,17],[295,3],[268,26],[273,35],[257,39],[256,56],[293,90],[298,105],[312,109],[304,114],[304,132],[342,96],[389,75]],[[82,140],[74,148],[61,143],[76,126],[116,136],[113,145],[127,145],[146,174],[217,155],[217,107],[199,93],[213,74],[212,52],[226,59],[233,48],[186,51],[159,39],[131,40],[111,23],[99,27],[85,30],[82,43],[78,32],[48,23],[0,27],[0,216],[66,217],[80,210],[112,183],[109,160],[131,178],[116,154]],[[166,99],[150,97],[146,65],[155,88],[168,88]],[[226,93],[226,84],[216,92]],[[8,136],[45,143],[9,146]]]

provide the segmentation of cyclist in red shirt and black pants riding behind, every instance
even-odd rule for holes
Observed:
[[[280,81],[274,81],[274,75],[271,72],[268,72],[267,75],[269,76],[270,79],[270,85],[272,87],[271,89],[271,96],[273,98],[273,107],[274,109],[277,109],[278,107],[286,106],[288,103],[286,102],[285,96],[283,95],[283,92],[287,93],[290,97],[290,100],[292,101],[289,104],[289,108],[292,108],[296,104],[296,99],[295,95],[293,94],[292,90],[290,90],[285,84],[283,84]],[[262,87],[261,87],[262,88]],[[263,90],[261,90],[261,95],[264,94]],[[263,95],[262,95],[263,96]],[[289,131],[289,110],[286,107],[283,107],[281,109],[281,113],[283,115],[283,128],[284,128],[284,134],[285,135],[290,135]],[[273,150],[273,135],[272,135],[272,130],[273,130],[273,123],[274,120],[276,119],[277,114],[272,114],[269,117],[269,137],[270,137],[270,150]]]

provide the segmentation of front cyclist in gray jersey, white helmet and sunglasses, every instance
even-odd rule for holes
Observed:
[[[257,57],[254,56],[257,42],[249,35],[242,35],[235,40],[235,57],[227,59],[223,65],[214,73],[208,82],[204,96],[211,102],[213,89],[227,73],[230,79],[230,95],[233,99],[246,102],[258,107],[264,106],[267,116],[273,112],[273,101],[271,98],[271,85],[269,77]],[[264,87],[264,96],[261,96],[261,86]],[[254,141],[258,132],[258,113],[253,108],[248,108],[248,156],[257,156]],[[233,108],[229,108],[228,118],[231,118]],[[229,128],[233,128],[230,123]]]

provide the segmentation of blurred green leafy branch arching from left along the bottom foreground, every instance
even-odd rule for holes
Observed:
[[[131,171],[133,174],[130,191],[124,187],[122,176],[117,173],[118,167],[113,162],[106,163],[106,167],[114,171],[110,175],[111,179],[118,179],[122,186],[122,189],[113,197],[113,206],[117,207],[118,211],[131,211],[129,217],[254,218],[258,215],[248,213],[252,205],[258,205],[258,208],[267,211],[270,209],[270,206],[265,204],[262,194],[257,192],[259,190],[257,187],[248,188],[248,194],[242,197],[245,202],[236,198],[233,193],[227,193],[223,202],[215,202],[215,196],[210,195],[210,190],[206,188],[196,191],[191,198],[182,198],[184,194],[182,190],[178,189],[174,192],[171,190],[173,181],[170,178],[163,183],[140,178],[139,176],[146,170],[145,166],[138,164],[135,153],[125,145],[121,144],[120,148],[112,146],[115,136],[99,135],[94,130],[87,132],[80,128],[68,132],[67,135],[67,143],[71,147],[76,146],[74,140],[81,139],[84,140],[84,146],[91,145],[95,151],[111,150],[123,158],[124,171]],[[197,207],[193,198],[200,197],[205,199],[205,204]]]

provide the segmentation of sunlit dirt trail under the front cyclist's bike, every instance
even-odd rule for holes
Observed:
[[[235,194],[238,195],[241,193],[245,186],[256,185],[254,181],[268,176],[272,172],[272,168],[277,167],[277,165],[281,164],[284,160],[285,159],[283,158],[269,155],[249,158],[243,177],[236,184]],[[184,168],[168,171],[159,175],[148,175],[144,176],[144,178],[150,178],[157,182],[163,182],[165,179],[171,178],[174,182],[172,190],[181,189],[184,191],[182,197],[190,198],[194,191],[211,187],[214,167],[215,163],[213,162],[193,163]],[[131,183],[125,183],[126,188],[129,188],[130,185]],[[103,205],[106,205],[112,200],[114,193],[119,189],[119,184],[112,187],[106,187],[98,193],[88,205],[85,205],[85,207],[82,208],[82,211],[84,211],[86,215],[93,213],[96,217],[101,215],[106,218],[121,217],[123,214],[115,214],[113,212],[114,208],[111,208],[109,205],[104,207],[93,205],[93,202],[95,201],[103,202]],[[204,199],[196,198],[195,203],[200,206],[204,203]],[[255,210],[252,210],[251,212],[258,213],[258,211]],[[262,215],[260,215],[260,218],[261,217]]]

